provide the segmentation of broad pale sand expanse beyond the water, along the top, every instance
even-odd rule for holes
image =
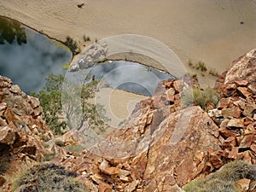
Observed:
[[[79,3],[84,3],[82,9]],[[223,72],[236,57],[256,47],[253,0],[9,0],[0,2],[0,15],[61,40],[67,35],[82,42],[84,34],[102,39],[125,33],[156,38],[188,71],[190,58]]]

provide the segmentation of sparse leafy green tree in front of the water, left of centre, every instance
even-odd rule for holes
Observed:
[[[49,125],[49,128],[54,131],[56,135],[62,135],[67,127],[69,129],[73,129],[74,127],[71,125],[71,119],[76,117],[77,108],[73,105],[73,95],[70,93],[65,94],[65,100],[67,100],[69,105],[63,106],[65,108],[66,119],[63,118],[62,111],[62,84],[65,81],[64,76],[61,74],[49,74],[46,79],[46,84],[44,89],[39,91],[38,94],[32,93],[31,96],[38,97],[41,106],[44,110],[43,119]],[[92,129],[99,129],[100,131],[105,130],[104,120],[108,120],[108,118],[104,117],[105,110],[100,105],[95,105],[90,103],[88,100],[93,98],[96,93],[96,86],[98,81],[91,81],[89,84],[84,84],[81,92],[79,92],[79,88],[77,88],[76,84],[73,84],[73,91],[77,91],[75,94],[81,96],[81,104],[84,113],[83,119],[81,119],[81,125],[83,125],[85,119],[90,125]],[[79,129],[79,127],[75,127]]]

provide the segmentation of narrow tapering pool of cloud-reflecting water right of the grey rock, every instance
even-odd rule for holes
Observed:
[[[126,90],[144,96],[153,96],[161,80],[174,79],[168,73],[153,67],[129,61],[111,61],[88,69],[90,79],[101,79],[113,89]]]

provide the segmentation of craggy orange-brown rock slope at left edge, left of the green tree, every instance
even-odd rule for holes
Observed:
[[[54,135],[41,118],[37,98],[26,96],[18,85],[0,76],[0,186],[11,189],[8,178],[54,153],[46,141]]]

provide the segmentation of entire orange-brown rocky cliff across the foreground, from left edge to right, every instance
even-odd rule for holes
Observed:
[[[0,153],[8,159],[8,168],[0,172],[2,188],[10,189],[4,175],[14,174],[16,165],[29,167],[49,153],[55,155],[51,162],[77,173],[90,191],[100,192],[183,191],[184,184],[231,160],[255,164],[255,54],[254,49],[241,56],[218,78],[215,89],[222,98],[207,112],[199,106],[182,106],[183,90],[189,84],[199,86],[193,79],[161,82],[152,98],[137,104],[123,129],[106,137],[111,143],[136,141],[120,145],[124,150],[108,149],[104,142],[94,151],[74,152],[56,146],[52,142],[55,136],[41,119],[38,100],[1,77]],[[83,144],[78,131],[58,139],[67,147]],[[101,151],[102,156],[92,153],[95,151]],[[255,181],[247,179],[244,191],[253,188]]]

